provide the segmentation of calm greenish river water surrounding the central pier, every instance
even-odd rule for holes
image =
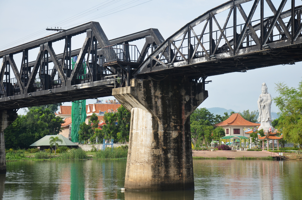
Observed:
[[[194,191],[129,192],[126,160],[7,162],[0,199],[302,199],[302,161],[193,160]]]

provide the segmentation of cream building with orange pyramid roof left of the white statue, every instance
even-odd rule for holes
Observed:
[[[250,138],[249,134],[244,132],[244,128],[255,128],[260,126],[258,123],[253,123],[245,120],[239,113],[232,114],[226,120],[215,124],[216,127],[221,126],[224,128],[226,136],[244,136]]]

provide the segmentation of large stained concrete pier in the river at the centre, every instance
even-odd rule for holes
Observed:
[[[131,111],[125,176],[128,190],[194,189],[191,113],[207,98],[188,79],[131,79],[112,95]]]

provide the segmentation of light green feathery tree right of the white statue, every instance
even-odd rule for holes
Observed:
[[[285,140],[299,144],[302,149],[302,81],[297,89],[280,82],[275,89],[279,96],[273,100],[280,110],[277,128],[282,129]]]

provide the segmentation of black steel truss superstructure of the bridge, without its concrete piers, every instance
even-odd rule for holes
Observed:
[[[208,76],[294,64],[302,60],[302,2],[296,4],[231,0],[166,40],[157,29],[108,40],[98,22],[89,22],[1,51],[0,109],[110,96],[131,78],[188,77],[205,84]],[[72,37],[79,34],[86,34],[82,48],[72,50]],[[140,39],[145,44],[139,50]],[[56,54],[59,40],[65,45]]]

